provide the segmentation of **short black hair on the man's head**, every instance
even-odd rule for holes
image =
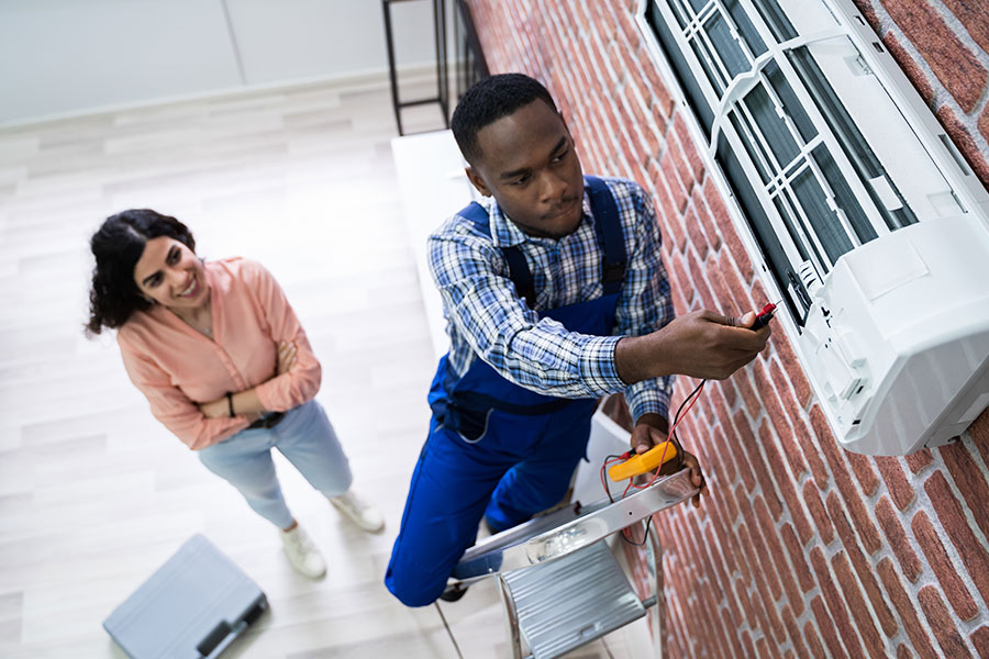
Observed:
[[[449,121],[457,146],[467,161],[473,164],[480,155],[477,133],[481,129],[537,99],[559,112],[546,88],[524,74],[498,74],[475,82],[457,103]]]

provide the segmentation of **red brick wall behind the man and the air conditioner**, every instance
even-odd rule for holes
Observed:
[[[491,70],[547,85],[585,170],[634,178],[654,196],[677,312],[762,305],[766,294],[725,203],[633,22],[637,4],[470,1]],[[909,54],[914,79],[932,90],[926,98],[942,119],[955,118],[963,150],[985,161],[978,118],[989,130],[989,57],[979,2],[945,0],[958,20],[936,32],[956,42],[935,47],[919,27],[932,21],[926,3],[875,4],[877,24],[905,16],[884,41]],[[959,23],[970,36],[957,36]],[[918,52],[932,63],[913,59]],[[964,79],[952,69],[963,60]],[[681,378],[675,402],[690,387]],[[682,437],[707,469],[711,496],[700,510],[655,518],[673,657],[989,657],[989,415],[934,451],[846,453],[778,331],[763,357],[709,384]]]

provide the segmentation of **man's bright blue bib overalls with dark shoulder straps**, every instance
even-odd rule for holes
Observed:
[[[618,205],[604,181],[586,177],[602,259],[600,298],[540,312],[570,332],[609,336],[625,270]],[[490,236],[487,211],[458,213]],[[502,249],[520,298],[534,301],[533,279],[519,247]],[[481,359],[459,378],[440,367],[430,389],[433,418],[412,473],[405,511],[385,584],[407,606],[431,604],[481,516],[492,530],[511,528],[558,503],[584,457],[593,399],[543,395],[512,383]]]

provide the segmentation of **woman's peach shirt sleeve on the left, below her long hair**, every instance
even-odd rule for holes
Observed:
[[[155,418],[192,450],[223,442],[247,427],[243,415],[233,418],[207,418],[191,400],[171,384],[171,379],[146,350],[132,343],[125,333],[116,335],[124,369],[131,382],[144,394]]]

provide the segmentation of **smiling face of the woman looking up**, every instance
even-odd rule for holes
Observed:
[[[184,243],[152,238],[134,266],[137,290],[168,308],[197,309],[209,300],[202,261]]]

